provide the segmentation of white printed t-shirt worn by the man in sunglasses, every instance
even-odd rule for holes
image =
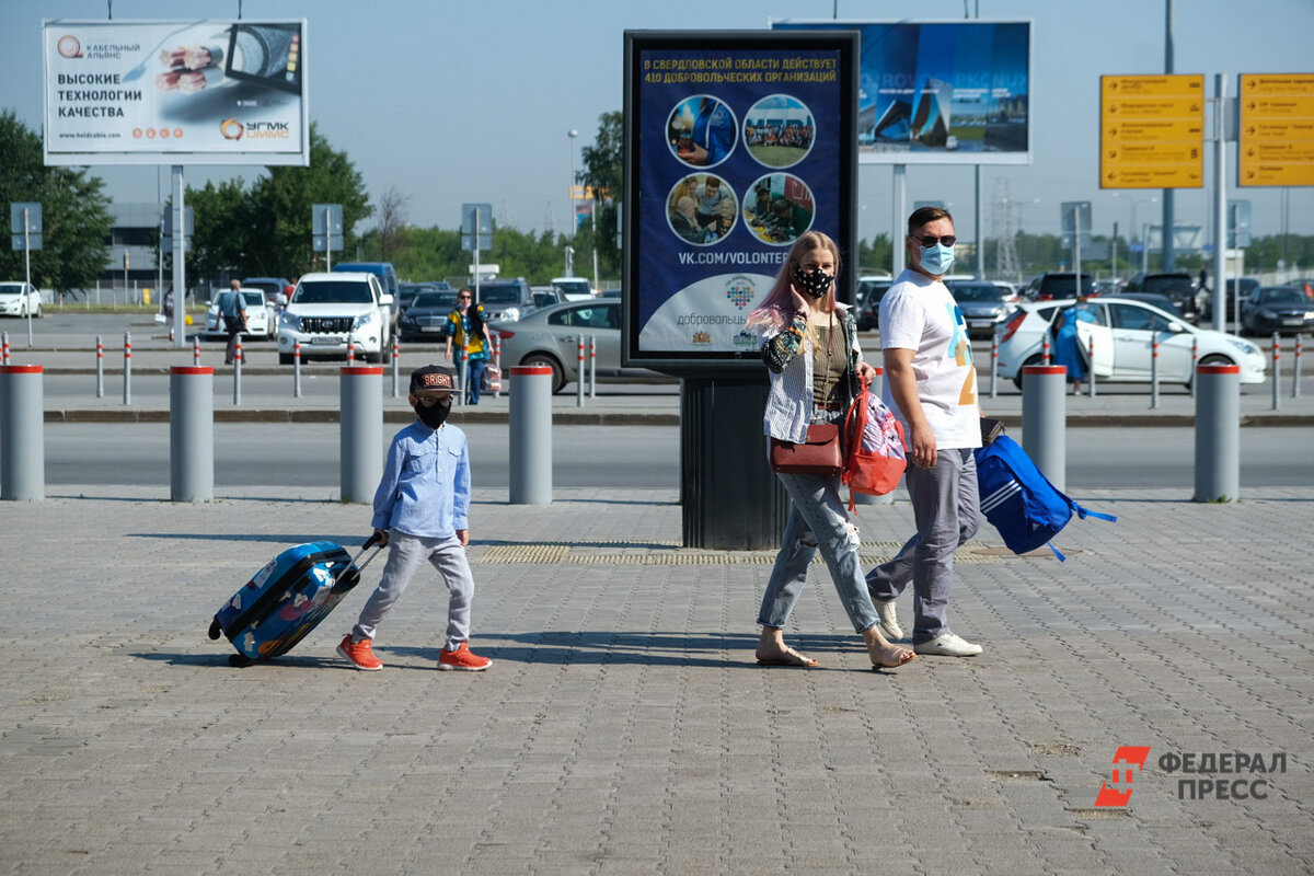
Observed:
[[[880,345],[912,349],[917,397],[940,448],[982,445],[976,366],[967,323],[945,284],[904,271],[880,299]],[[882,397],[908,428],[886,374]]]

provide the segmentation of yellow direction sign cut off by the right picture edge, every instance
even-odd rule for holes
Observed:
[[[1242,74],[1239,185],[1314,185],[1314,74]]]

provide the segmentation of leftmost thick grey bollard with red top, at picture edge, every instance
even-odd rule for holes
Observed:
[[[0,499],[46,498],[41,365],[0,365]]]

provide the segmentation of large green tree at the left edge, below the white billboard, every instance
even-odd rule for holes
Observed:
[[[71,167],[46,167],[41,138],[13,110],[0,113],[0,201],[41,204],[42,248],[32,252],[32,281],[59,293],[91,286],[109,260],[109,198],[104,183]],[[22,277],[24,252],[0,250],[0,277]]]

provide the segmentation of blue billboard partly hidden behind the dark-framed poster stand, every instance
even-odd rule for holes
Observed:
[[[1029,21],[773,21],[862,34],[858,162],[1030,164]]]

